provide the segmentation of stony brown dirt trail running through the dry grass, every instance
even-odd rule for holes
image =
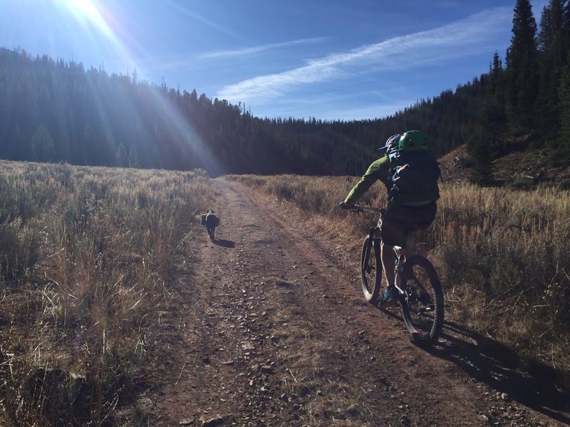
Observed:
[[[475,335],[447,325],[434,349],[415,346],[363,299],[358,253],[331,250],[242,184],[212,182],[222,224],[215,241],[200,228],[187,244],[165,385],[139,401],[149,425],[569,422]]]

